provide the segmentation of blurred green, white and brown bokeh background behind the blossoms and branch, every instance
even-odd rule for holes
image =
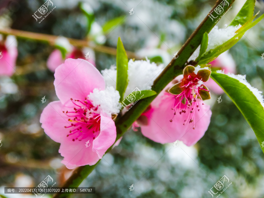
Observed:
[[[99,35],[90,31],[94,45],[116,48],[120,36],[124,47],[137,57],[148,56],[165,65],[214,6],[214,0],[52,0],[56,9],[41,23],[32,14],[41,0],[1,0],[0,28],[87,38],[87,18],[80,2],[89,4],[99,27],[124,16],[123,23]],[[233,20],[245,0],[237,0],[217,24],[224,27]],[[134,14],[129,10],[134,8]],[[255,13],[264,12],[257,1]],[[100,30],[100,28],[99,28]],[[93,35],[92,35],[93,34]],[[99,41],[98,41],[99,39]],[[101,40],[100,40],[101,39]],[[238,74],[247,75],[253,87],[263,91],[264,22],[261,21],[230,50]],[[143,49],[143,50],[142,50]],[[43,108],[57,100],[53,72],[46,66],[54,50],[47,43],[18,38],[16,72],[0,77],[0,194],[6,197],[35,197],[4,194],[4,187],[36,187],[47,175],[56,187],[69,177],[60,163],[59,143],[45,135],[39,122]],[[115,64],[116,57],[94,50],[99,70]],[[159,54],[161,57],[156,57]],[[1,67],[1,65],[0,65]],[[42,97],[47,101],[42,104]],[[208,131],[194,146],[180,141],[161,145],[145,138],[140,130],[127,131],[121,143],[107,153],[80,185],[95,187],[95,194],[72,197],[211,197],[208,191],[226,175],[232,185],[221,197],[264,197],[264,155],[251,127],[226,94],[222,102],[214,95],[209,101],[212,117]],[[129,191],[134,184],[135,189]],[[51,197],[46,194],[45,197]]]

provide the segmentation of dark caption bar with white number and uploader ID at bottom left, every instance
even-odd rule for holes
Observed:
[[[24,187],[5,187],[5,194],[54,194],[54,193],[70,193],[70,194],[94,194],[95,187],[47,187],[47,188],[24,188]]]

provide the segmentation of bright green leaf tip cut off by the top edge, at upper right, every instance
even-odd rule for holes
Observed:
[[[229,26],[244,25],[254,14],[255,0],[247,0]]]

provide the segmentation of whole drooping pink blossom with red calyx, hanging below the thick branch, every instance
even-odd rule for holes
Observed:
[[[210,95],[198,70],[180,75],[168,84],[133,127],[141,126],[144,136],[163,144],[180,140],[191,146],[199,141],[207,131],[212,112],[201,99],[209,99]],[[178,83],[173,85],[175,81]],[[177,87],[179,94],[168,92],[172,85]]]

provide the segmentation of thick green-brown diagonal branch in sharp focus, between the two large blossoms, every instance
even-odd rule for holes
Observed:
[[[221,1],[220,0],[216,1],[216,4],[211,11],[213,11],[216,8],[216,6],[220,4]],[[235,0],[227,0],[227,1],[229,2],[229,7],[230,7]],[[224,8],[223,12],[225,12],[229,7]],[[209,12],[209,14],[211,13],[211,11]],[[211,19],[208,16],[205,17],[202,23],[192,33],[192,35],[189,37],[189,39],[185,42],[185,44],[178,52],[179,57],[177,59],[172,59],[172,61],[167,65],[167,67],[163,70],[163,72],[157,77],[157,79],[155,79],[154,84],[152,86],[152,90],[157,92],[157,95],[176,76],[182,74],[182,70],[185,67],[185,63],[188,61],[189,57],[196,50],[196,48],[200,45],[203,34],[205,32],[209,33],[215,25],[216,23],[211,21]],[[134,121],[136,121],[136,119],[138,119],[138,117],[145,111],[145,109],[150,105],[150,103],[153,101],[153,99],[155,99],[157,95],[138,101],[137,104],[133,106],[131,110],[129,110],[122,117],[118,117],[116,119],[115,121],[116,132],[117,132],[116,140],[118,140],[128,130],[128,128],[133,124]],[[108,152],[109,150],[111,150],[111,148],[109,148],[106,152]],[[94,169],[95,165],[93,166],[87,165],[84,167],[86,170],[91,172]],[[87,174],[85,174],[84,175],[85,177],[82,177],[82,172],[84,170],[84,167],[78,167],[76,171],[71,175],[71,177],[65,182],[63,187],[78,187],[80,183],[87,176]],[[68,195],[65,194],[55,194],[53,198],[67,197],[67,196]]]

